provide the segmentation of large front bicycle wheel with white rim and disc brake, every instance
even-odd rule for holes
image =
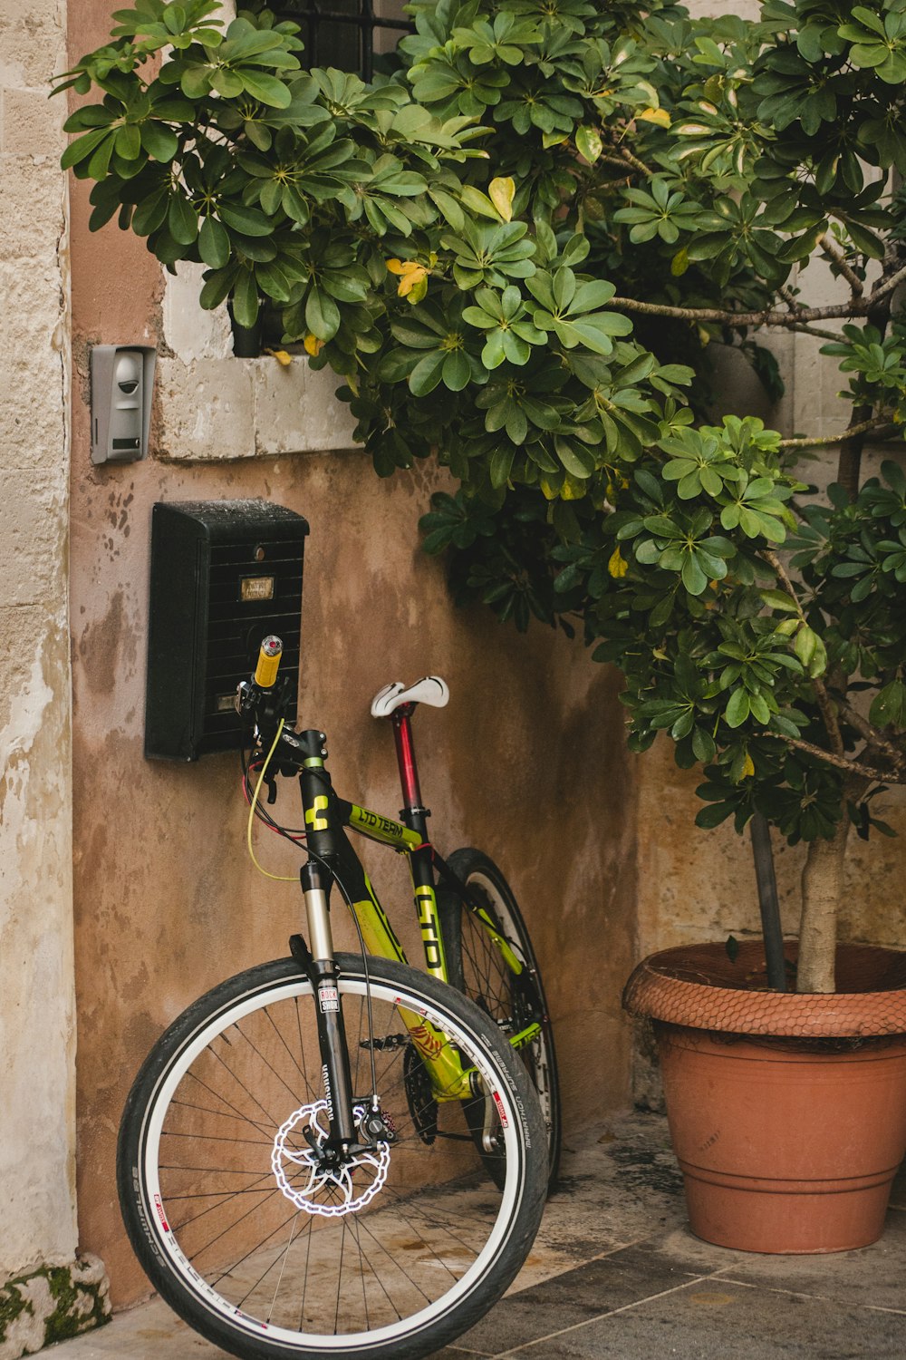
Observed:
[[[326,1208],[300,1208],[277,1179],[274,1159],[281,1168],[293,1160],[284,1136],[293,1111],[323,1095],[311,985],[292,959],[239,974],[183,1012],[151,1050],[122,1117],[117,1187],[139,1261],[194,1330],[246,1360],[424,1356],[503,1295],[541,1221],[543,1123],[503,1036],[452,987],[379,959],[368,962],[368,1030],[363,960],[337,962],[356,1095],[371,1091],[374,1057],[395,1127],[372,1202],[364,1161],[355,1170],[364,1189],[348,1190],[355,1212],[331,1208],[333,1185]],[[488,1193],[459,1102],[441,1100],[439,1118],[462,1133],[420,1132],[401,1004],[493,1091],[507,1149],[499,1194]],[[311,1144],[293,1142],[297,1166]],[[293,1194],[300,1183],[291,1182]]]

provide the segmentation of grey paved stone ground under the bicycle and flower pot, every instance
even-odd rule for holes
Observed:
[[[48,1360],[220,1360],[159,1302]],[[761,1257],[685,1225],[664,1121],[632,1115],[564,1157],[532,1254],[509,1295],[435,1360],[903,1360],[906,1176],[864,1251]]]

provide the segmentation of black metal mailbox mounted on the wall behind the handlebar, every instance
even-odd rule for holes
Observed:
[[[300,514],[268,500],[155,505],[145,756],[236,749],[236,685],[269,632],[283,639],[295,721],[307,533]]]

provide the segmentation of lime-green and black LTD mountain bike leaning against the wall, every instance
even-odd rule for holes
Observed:
[[[463,978],[469,951],[462,921],[444,941],[440,902],[431,910],[439,857],[418,830],[420,798],[409,800],[413,826],[337,798],[325,733],[284,724],[278,661],[278,639],[265,639],[239,685],[257,737],[243,786],[250,828],[259,816],[304,847],[308,940],[295,934],[289,959],[220,983],[155,1043],[121,1122],[120,1202],[151,1282],[216,1345],[249,1360],[414,1360],[473,1326],[534,1240],[549,1136],[518,1051],[541,1028],[513,1008],[522,1027],[509,1035],[440,981],[446,945],[455,956],[459,941]],[[410,793],[407,706],[420,698],[390,709]],[[261,804],[276,774],[299,777],[297,830]],[[429,972],[402,962],[346,827],[407,854]],[[444,883],[460,918],[463,907],[486,918],[501,956],[512,953],[520,998],[528,968],[493,923],[494,903],[473,902],[454,870]],[[334,952],[334,884],[361,956]]]

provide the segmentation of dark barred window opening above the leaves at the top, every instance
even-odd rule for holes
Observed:
[[[337,67],[371,80],[375,57],[393,52],[413,24],[402,16],[403,0],[273,0],[280,19],[300,26],[307,67]]]

